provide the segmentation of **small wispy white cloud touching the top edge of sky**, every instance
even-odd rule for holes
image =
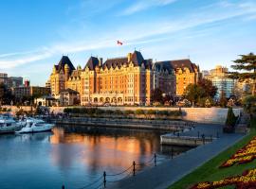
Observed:
[[[176,0],[140,0],[136,4],[124,9],[121,15],[131,15],[138,11],[150,9],[152,7],[162,7],[174,3]]]

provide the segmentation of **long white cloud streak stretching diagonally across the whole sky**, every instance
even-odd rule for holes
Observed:
[[[151,0],[151,2],[156,1]],[[174,1],[157,1],[157,4],[155,4],[159,6],[167,5],[171,2]],[[174,35],[170,34],[175,32],[192,29],[197,26],[207,26],[233,18],[255,18],[255,15],[256,4],[249,1],[238,4],[214,4],[209,8],[201,9],[200,12],[194,10],[194,12],[190,12],[190,14],[176,20],[167,18],[161,21],[137,23],[137,26],[132,23],[133,26],[128,24],[108,32],[104,30],[103,35],[99,33],[97,38],[94,39],[84,39],[82,37],[80,42],[55,43],[35,51],[2,54],[0,55],[0,67],[1,69],[10,69],[29,62],[46,60],[56,55],[113,48],[117,46],[117,40],[124,41],[124,45],[127,46],[165,41],[174,37]],[[131,30],[130,28],[133,29]],[[145,30],[145,28],[147,29]]]

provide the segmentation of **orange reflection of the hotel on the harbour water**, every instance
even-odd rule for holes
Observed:
[[[129,167],[133,161],[148,161],[155,152],[159,152],[159,134],[152,131],[145,133],[108,129],[108,133],[104,132],[104,135],[101,134],[104,129],[89,129],[88,132],[72,130],[71,133],[68,129],[65,131],[64,128],[55,128],[54,134],[50,136],[51,144],[71,145],[68,148],[53,148],[54,163],[61,166],[70,165],[72,159],[69,159],[67,154],[75,153],[81,163],[89,167],[90,172],[95,172],[101,167],[116,171]],[[75,144],[80,146],[79,152],[72,147]]]

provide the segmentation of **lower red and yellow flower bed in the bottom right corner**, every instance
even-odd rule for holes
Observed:
[[[223,186],[236,186],[237,189],[256,188],[256,169],[247,170],[242,176],[229,177],[218,181],[197,183],[191,189],[214,189]]]

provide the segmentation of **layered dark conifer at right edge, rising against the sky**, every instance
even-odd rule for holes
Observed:
[[[252,95],[256,94],[256,55],[249,53],[247,55],[240,55],[240,59],[234,60],[234,65],[231,68],[243,72],[229,72],[229,77],[244,81],[252,79]]]

